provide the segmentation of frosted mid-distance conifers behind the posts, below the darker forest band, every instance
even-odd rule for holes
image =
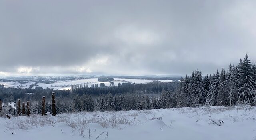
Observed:
[[[72,102],[67,103],[61,100],[56,101],[56,113],[81,112],[81,111],[121,111],[121,110],[143,110],[173,108],[177,106],[176,92],[162,90],[160,96],[149,96],[149,94],[101,94],[97,100],[93,100],[91,95],[76,95]],[[49,100],[49,99],[48,99]],[[26,108],[25,108],[26,109]],[[27,110],[25,110],[26,112]],[[45,113],[52,112],[52,104],[46,102]],[[12,106],[5,108],[4,113],[12,116],[18,114],[18,110]],[[42,114],[42,101],[33,101],[30,104],[31,114]]]

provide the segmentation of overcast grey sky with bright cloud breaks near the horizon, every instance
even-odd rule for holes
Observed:
[[[0,76],[204,74],[256,62],[254,0],[0,0]]]

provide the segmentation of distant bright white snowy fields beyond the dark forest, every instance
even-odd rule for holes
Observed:
[[[114,85],[117,86],[118,83],[126,83],[126,82],[131,82],[131,83],[148,83],[152,82],[154,80],[143,80],[143,79],[120,79],[120,78],[114,78]],[[156,80],[160,82],[172,82],[173,80]],[[84,84],[88,85],[88,87],[91,87],[92,84],[98,84],[104,83],[105,86],[110,86],[110,82],[98,82],[98,78],[91,78],[91,79],[82,79],[82,80],[70,80],[70,81],[64,81],[64,82],[56,82],[53,84],[44,84],[44,83],[38,83],[38,86],[43,87],[44,89],[50,88],[50,89],[56,89],[56,90],[70,90],[71,85],[76,85],[76,84]],[[6,88],[28,88],[31,84],[35,84],[35,82],[29,82],[25,84],[20,84],[17,82],[0,82],[0,84],[4,84],[4,87]],[[35,87],[33,87],[35,88]]]

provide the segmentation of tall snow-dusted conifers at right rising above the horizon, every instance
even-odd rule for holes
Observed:
[[[182,78],[178,107],[256,105],[256,65],[246,54],[237,66],[230,64],[228,71],[222,68],[216,73],[202,76],[199,70]]]

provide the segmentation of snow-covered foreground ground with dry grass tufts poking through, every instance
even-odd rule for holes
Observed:
[[[3,140],[256,140],[256,107],[172,108],[0,118]],[[213,121],[211,121],[211,120]],[[56,123],[53,123],[56,121]]]

